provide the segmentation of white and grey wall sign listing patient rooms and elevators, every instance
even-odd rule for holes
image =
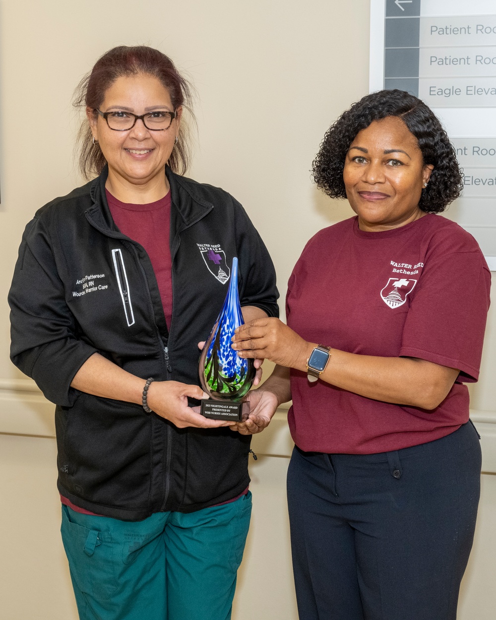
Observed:
[[[445,215],[496,270],[496,0],[371,0],[370,34],[370,90],[412,92],[441,118],[465,175]]]

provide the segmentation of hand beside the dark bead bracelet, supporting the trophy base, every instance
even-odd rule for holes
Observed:
[[[177,428],[218,428],[232,424],[225,420],[210,420],[193,411],[188,407],[188,396],[198,400],[208,398],[198,386],[178,381],[153,381],[148,388],[148,407]]]

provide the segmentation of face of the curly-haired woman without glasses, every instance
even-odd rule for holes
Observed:
[[[343,170],[360,229],[399,228],[425,215],[418,201],[432,170],[432,165],[424,165],[417,138],[401,118],[374,120],[361,130],[348,149]]]

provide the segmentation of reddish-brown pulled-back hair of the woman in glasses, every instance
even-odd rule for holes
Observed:
[[[168,56],[146,45],[136,47],[120,45],[100,56],[91,71],[79,82],[74,92],[73,105],[75,107],[99,108],[105,99],[105,92],[117,78],[135,76],[141,73],[159,79],[169,91],[174,109],[182,105],[188,110],[194,122],[192,86],[179,74]],[[107,161],[99,144],[92,143],[91,128],[86,117],[79,129],[76,148],[78,146],[79,169],[82,175],[86,179],[99,175]],[[169,157],[170,168],[177,174],[184,174],[190,164],[191,151],[188,127],[185,123],[181,123],[179,141]]]

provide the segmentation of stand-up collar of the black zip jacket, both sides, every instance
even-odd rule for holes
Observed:
[[[170,200],[180,216],[179,221],[175,223],[177,229],[188,228],[213,208],[212,203],[206,201],[196,191],[195,186],[197,184],[195,182],[175,174],[169,166],[166,166],[166,175],[170,185]],[[125,237],[117,231],[110,208],[108,208],[107,195],[105,194],[107,177],[108,166],[105,165],[99,177],[91,184],[90,196],[93,204],[86,210],[86,216],[98,229],[107,232],[110,236]]]

